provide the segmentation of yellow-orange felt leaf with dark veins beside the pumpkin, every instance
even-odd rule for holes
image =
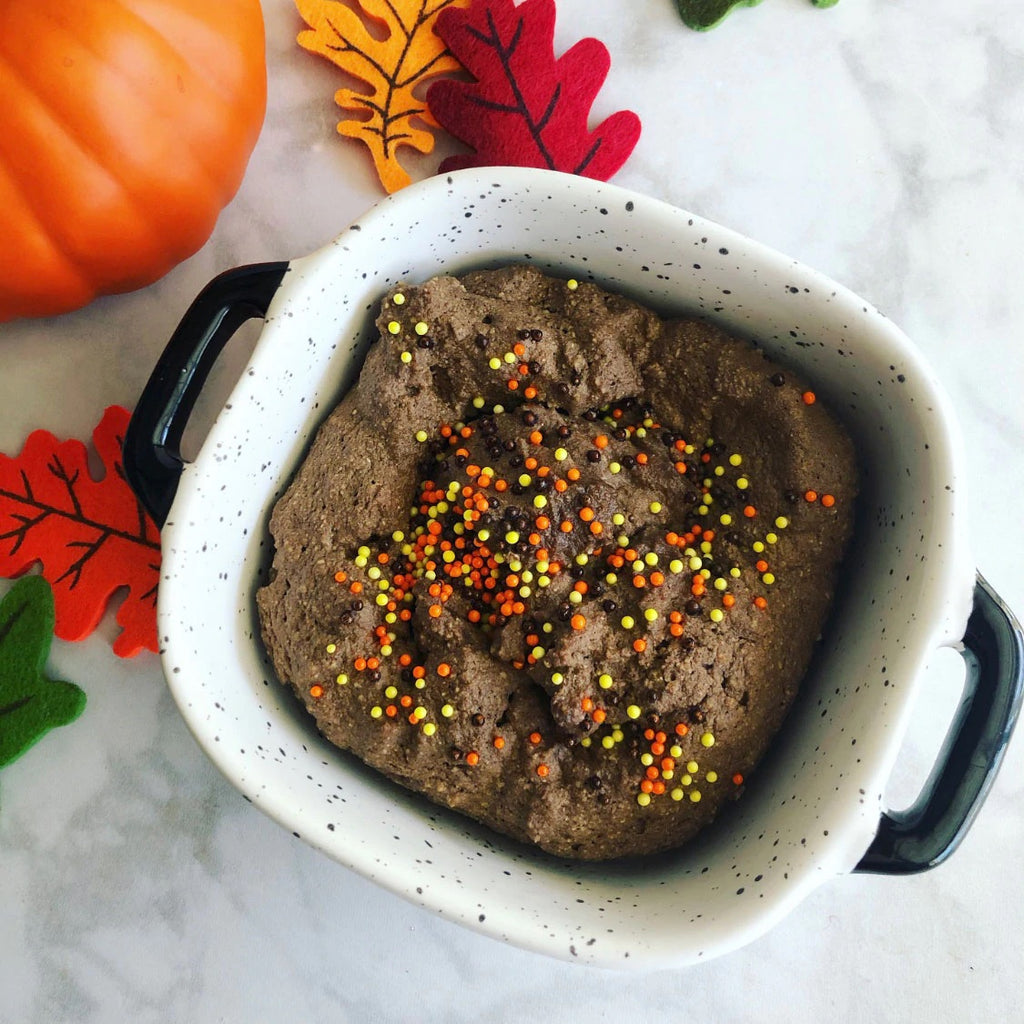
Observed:
[[[338,131],[369,146],[381,183],[397,191],[410,182],[396,158],[401,146],[430,153],[434,136],[426,103],[414,92],[426,80],[458,70],[459,62],[434,35],[438,13],[468,0],[295,0],[308,30],[298,43],[366,83],[366,91],[339,89],[335,102],[354,115]],[[358,11],[380,30],[371,32]],[[384,33],[384,38],[378,36]]]

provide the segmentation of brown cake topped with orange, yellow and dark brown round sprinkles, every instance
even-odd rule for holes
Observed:
[[[552,853],[684,843],[797,694],[856,470],[792,371],[528,266],[401,285],[270,522],[321,731]]]

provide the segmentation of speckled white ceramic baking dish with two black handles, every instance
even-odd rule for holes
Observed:
[[[269,512],[356,377],[381,297],[399,281],[510,261],[755,339],[813,382],[857,442],[858,535],[797,706],[743,799],[672,854],[563,862],[407,794],[319,737],[259,640]],[[183,465],[196,395],[252,316],[265,326],[251,361]],[[664,203],[508,168],[429,179],[311,256],[216,279],[169,344],[125,447],[129,478],[163,523],[167,679],[227,778],[286,828],[445,918],[554,956],[634,968],[708,959],[834,876],[921,870],[958,842],[1021,695],[1019,628],[968,549],[962,463],[935,378],[862,299]],[[919,802],[887,813],[911,698],[940,645],[965,651],[961,713]]]

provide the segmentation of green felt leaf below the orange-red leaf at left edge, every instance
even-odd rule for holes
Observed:
[[[78,686],[44,673],[53,624],[53,591],[42,577],[23,577],[0,601],[0,766],[85,708]]]

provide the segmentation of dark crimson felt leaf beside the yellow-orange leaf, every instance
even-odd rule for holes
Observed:
[[[588,129],[611,60],[596,39],[555,58],[554,0],[475,0],[442,11],[434,31],[476,79],[427,92],[437,122],[475,151],[450,157],[442,172],[511,164],[607,180],[633,152],[640,119],[632,111]]]

